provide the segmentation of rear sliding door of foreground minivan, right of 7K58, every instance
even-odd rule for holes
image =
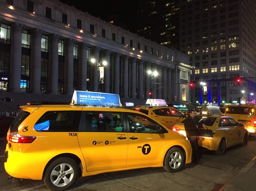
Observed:
[[[88,172],[126,167],[128,138],[121,112],[83,112],[78,141]]]

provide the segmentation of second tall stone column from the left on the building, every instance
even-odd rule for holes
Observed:
[[[31,69],[32,74],[30,77],[30,84],[32,85],[32,93],[41,93],[41,39],[43,31],[39,29],[33,30],[32,40],[32,56],[31,56]]]

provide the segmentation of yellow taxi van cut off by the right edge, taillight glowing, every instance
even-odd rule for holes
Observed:
[[[224,113],[225,116],[231,116],[239,123],[244,124],[249,135],[256,133],[256,106],[250,104],[228,105]]]

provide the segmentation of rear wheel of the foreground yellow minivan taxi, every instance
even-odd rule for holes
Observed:
[[[73,159],[58,158],[47,167],[43,179],[50,190],[64,191],[75,184],[79,175],[79,167]]]

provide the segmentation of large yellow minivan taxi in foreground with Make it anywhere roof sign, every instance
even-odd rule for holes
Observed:
[[[9,127],[4,167],[12,177],[63,191],[81,176],[145,167],[173,173],[191,162],[184,136],[120,107],[119,95],[74,91],[70,105],[37,104],[21,106]]]

